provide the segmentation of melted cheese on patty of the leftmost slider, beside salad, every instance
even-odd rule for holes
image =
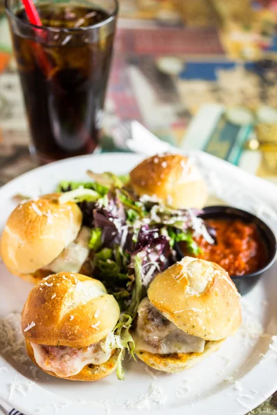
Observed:
[[[89,228],[82,226],[75,241],[69,243],[69,246],[45,268],[53,273],[78,273],[89,255],[90,237]]]

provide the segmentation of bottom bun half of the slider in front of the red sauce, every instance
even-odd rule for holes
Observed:
[[[161,355],[139,350],[136,351],[136,356],[153,369],[165,371],[170,374],[176,374],[179,371],[190,369],[190,367],[193,367],[202,359],[220,349],[220,346],[224,340],[225,339],[217,340],[215,342],[206,342],[202,353],[176,353],[172,355]]]

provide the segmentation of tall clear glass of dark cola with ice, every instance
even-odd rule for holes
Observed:
[[[34,153],[42,163],[96,149],[111,64],[115,15],[70,3],[37,3],[9,16]]]

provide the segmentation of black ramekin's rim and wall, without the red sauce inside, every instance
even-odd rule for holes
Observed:
[[[255,273],[245,274],[245,275],[230,275],[231,279],[235,283],[235,286],[238,288],[240,294],[244,295],[249,293],[251,289],[256,285],[262,274],[268,270],[276,260],[277,253],[277,242],[274,232],[269,228],[269,226],[259,219],[254,214],[245,212],[244,210],[232,208],[230,206],[208,206],[203,209],[203,212],[198,215],[202,219],[240,219],[245,223],[254,223],[257,227],[260,237],[265,243],[267,249],[267,263],[265,266],[257,270]],[[177,255],[179,257],[184,257],[184,254],[181,252],[181,249],[176,244]]]

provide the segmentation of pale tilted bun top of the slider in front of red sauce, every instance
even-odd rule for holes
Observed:
[[[205,340],[222,340],[238,330],[240,294],[214,262],[191,257],[158,274],[148,288],[150,302],[179,329]]]

